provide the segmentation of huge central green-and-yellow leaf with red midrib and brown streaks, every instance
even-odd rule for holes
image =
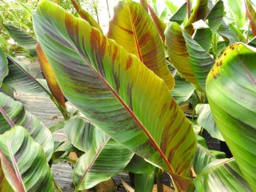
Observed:
[[[135,55],[50,1],[40,2],[33,21],[66,98],[186,190],[196,137],[164,81]]]

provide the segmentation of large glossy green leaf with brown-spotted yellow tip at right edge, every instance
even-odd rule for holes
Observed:
[[[206,93],[221,134],[250,187],[256,190],[256,49],[236,43],[212,68]]]

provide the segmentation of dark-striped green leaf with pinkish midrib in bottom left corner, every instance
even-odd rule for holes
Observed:
[[[54,191],[53,176],[44,150],[26,129],[15,126],[0,135],[0,158],[6,180],[15,191]],[[13,172],[22,183],[22,190],[15,188]]]

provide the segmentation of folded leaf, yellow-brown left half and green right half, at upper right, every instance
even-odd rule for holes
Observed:
[[[169,23],[165,33],[169,59],[180,76],[205,91],[205,79],[214,64],[212,57],[177,23]]]

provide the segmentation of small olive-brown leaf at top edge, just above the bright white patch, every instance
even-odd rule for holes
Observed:
[[[208,12],[207,3],[207,0],[196,0],[196,6],[194,7],[193,12],[189,17],[187,24],[185,24],[185,30],[187,33],[189,33],[189,35],[194,33],[192,24],[200,19],[205,19],[205,16]]]

